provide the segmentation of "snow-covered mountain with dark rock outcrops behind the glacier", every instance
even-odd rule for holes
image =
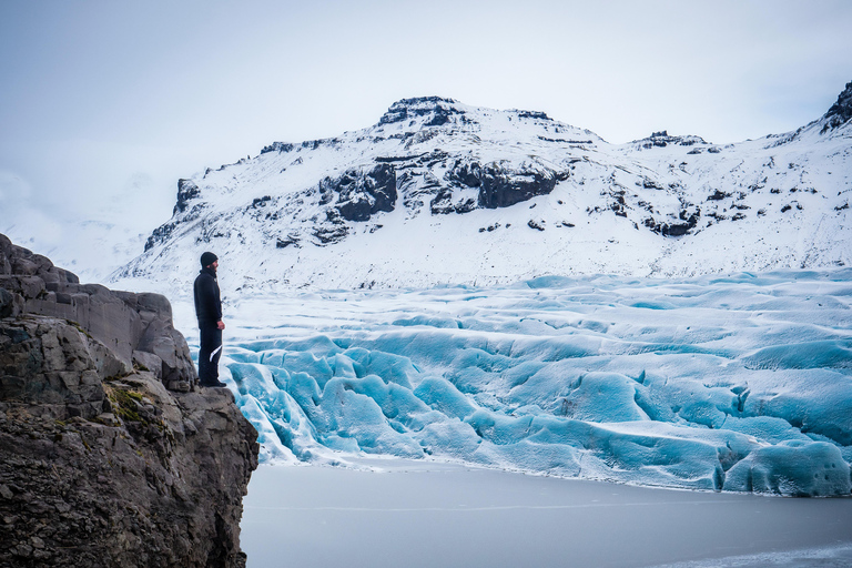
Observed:
[[[852,83],[794,132],[613,145],[542,112],[406,99],[180,180],[172,219],[113,278],[185,288],[206,250],[232,291],[844,266],[850,119]]]

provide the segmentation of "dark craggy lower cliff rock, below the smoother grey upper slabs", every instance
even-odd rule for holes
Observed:
[[[231,392],[104,381],[93,346],[61,320],[0,321],[0,566],[245,566],[257,434]]]

